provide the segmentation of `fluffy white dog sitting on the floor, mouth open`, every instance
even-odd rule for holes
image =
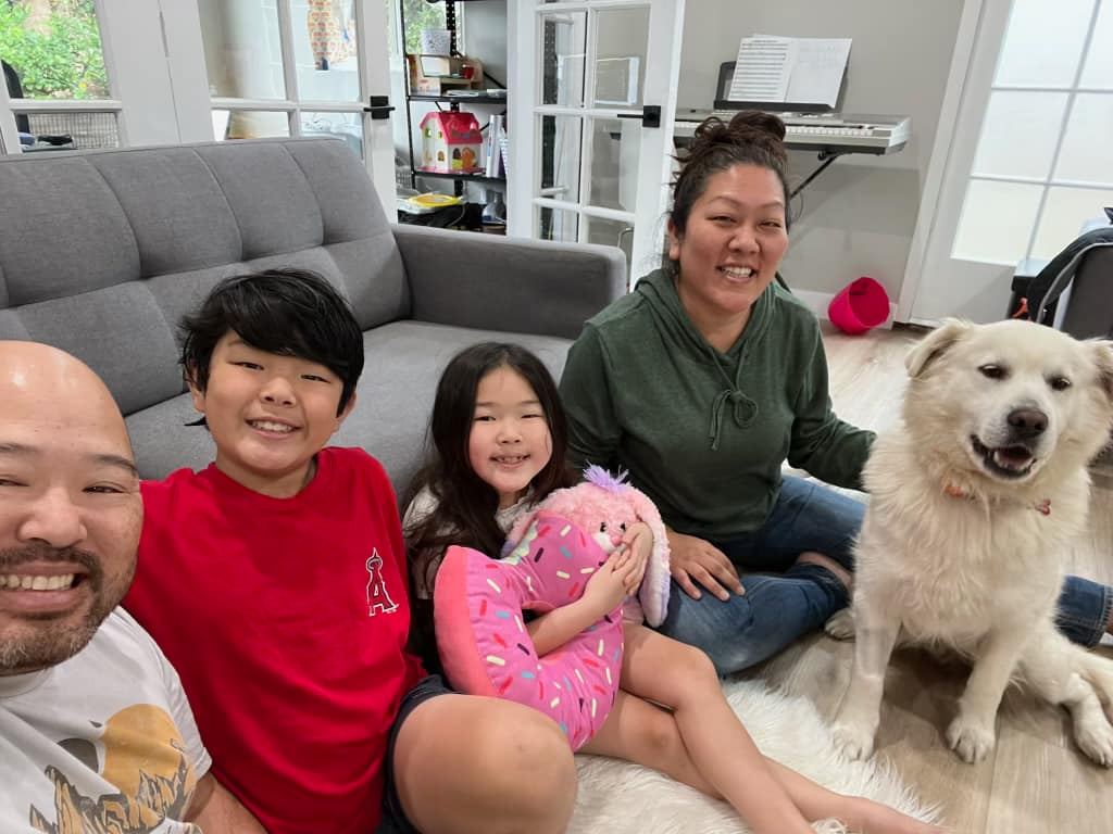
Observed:
[[[997,707],[1018,678],[1071,713],[1074,737],[1113,766],[1113,664],[1055,631],[1060,557],[1085,528],[1087,463],[1113,424],[1113,347],[1042,325],[948,321],[909,354],[903,425],[865,470],[856,550],[854,672],[835,723],[853,758],[873,752],[898,633],[973,664],[947,729],[967,762],[992,749]]]

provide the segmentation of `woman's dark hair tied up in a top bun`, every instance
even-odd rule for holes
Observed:
[[[785,226],[791,224],[788,200],[788,152],[785,150],[785,122],[772,113],[739,110],[730,123],[711,116],[696,128],[691,145],[677,157],[680,171],[672,180],[672,210],[669,219],[678,237],[688,228],[688,216],[707,181],[736,165],[754,165],[777,175],[785,192]]]

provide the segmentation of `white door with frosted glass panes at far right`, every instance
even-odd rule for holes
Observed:
[[[1003,318],[1113,205],[1113,0],[967,0],[897,318]]]

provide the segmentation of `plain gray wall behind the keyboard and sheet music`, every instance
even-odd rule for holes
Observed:
[[[912,117],[913,138],[903,151],[844,157],[797,198],[782,269],[794,288],[834,294],[868,275],[896,302],[962,7],[963,0],[688,0],[679,107],[710,107],[719,63],[737,57],[742,37],[760,32],[853,38],[839,108]],[[817,160],[792,152],[789,165],[799,181]]]

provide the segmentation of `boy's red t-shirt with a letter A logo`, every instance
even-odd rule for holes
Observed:
[[[272,834],[371,834],[391,725],[421,676],[382,465],[328,448],[293,498],[215,466],[142,497],[124,604],[177,667],[214,775]]]

